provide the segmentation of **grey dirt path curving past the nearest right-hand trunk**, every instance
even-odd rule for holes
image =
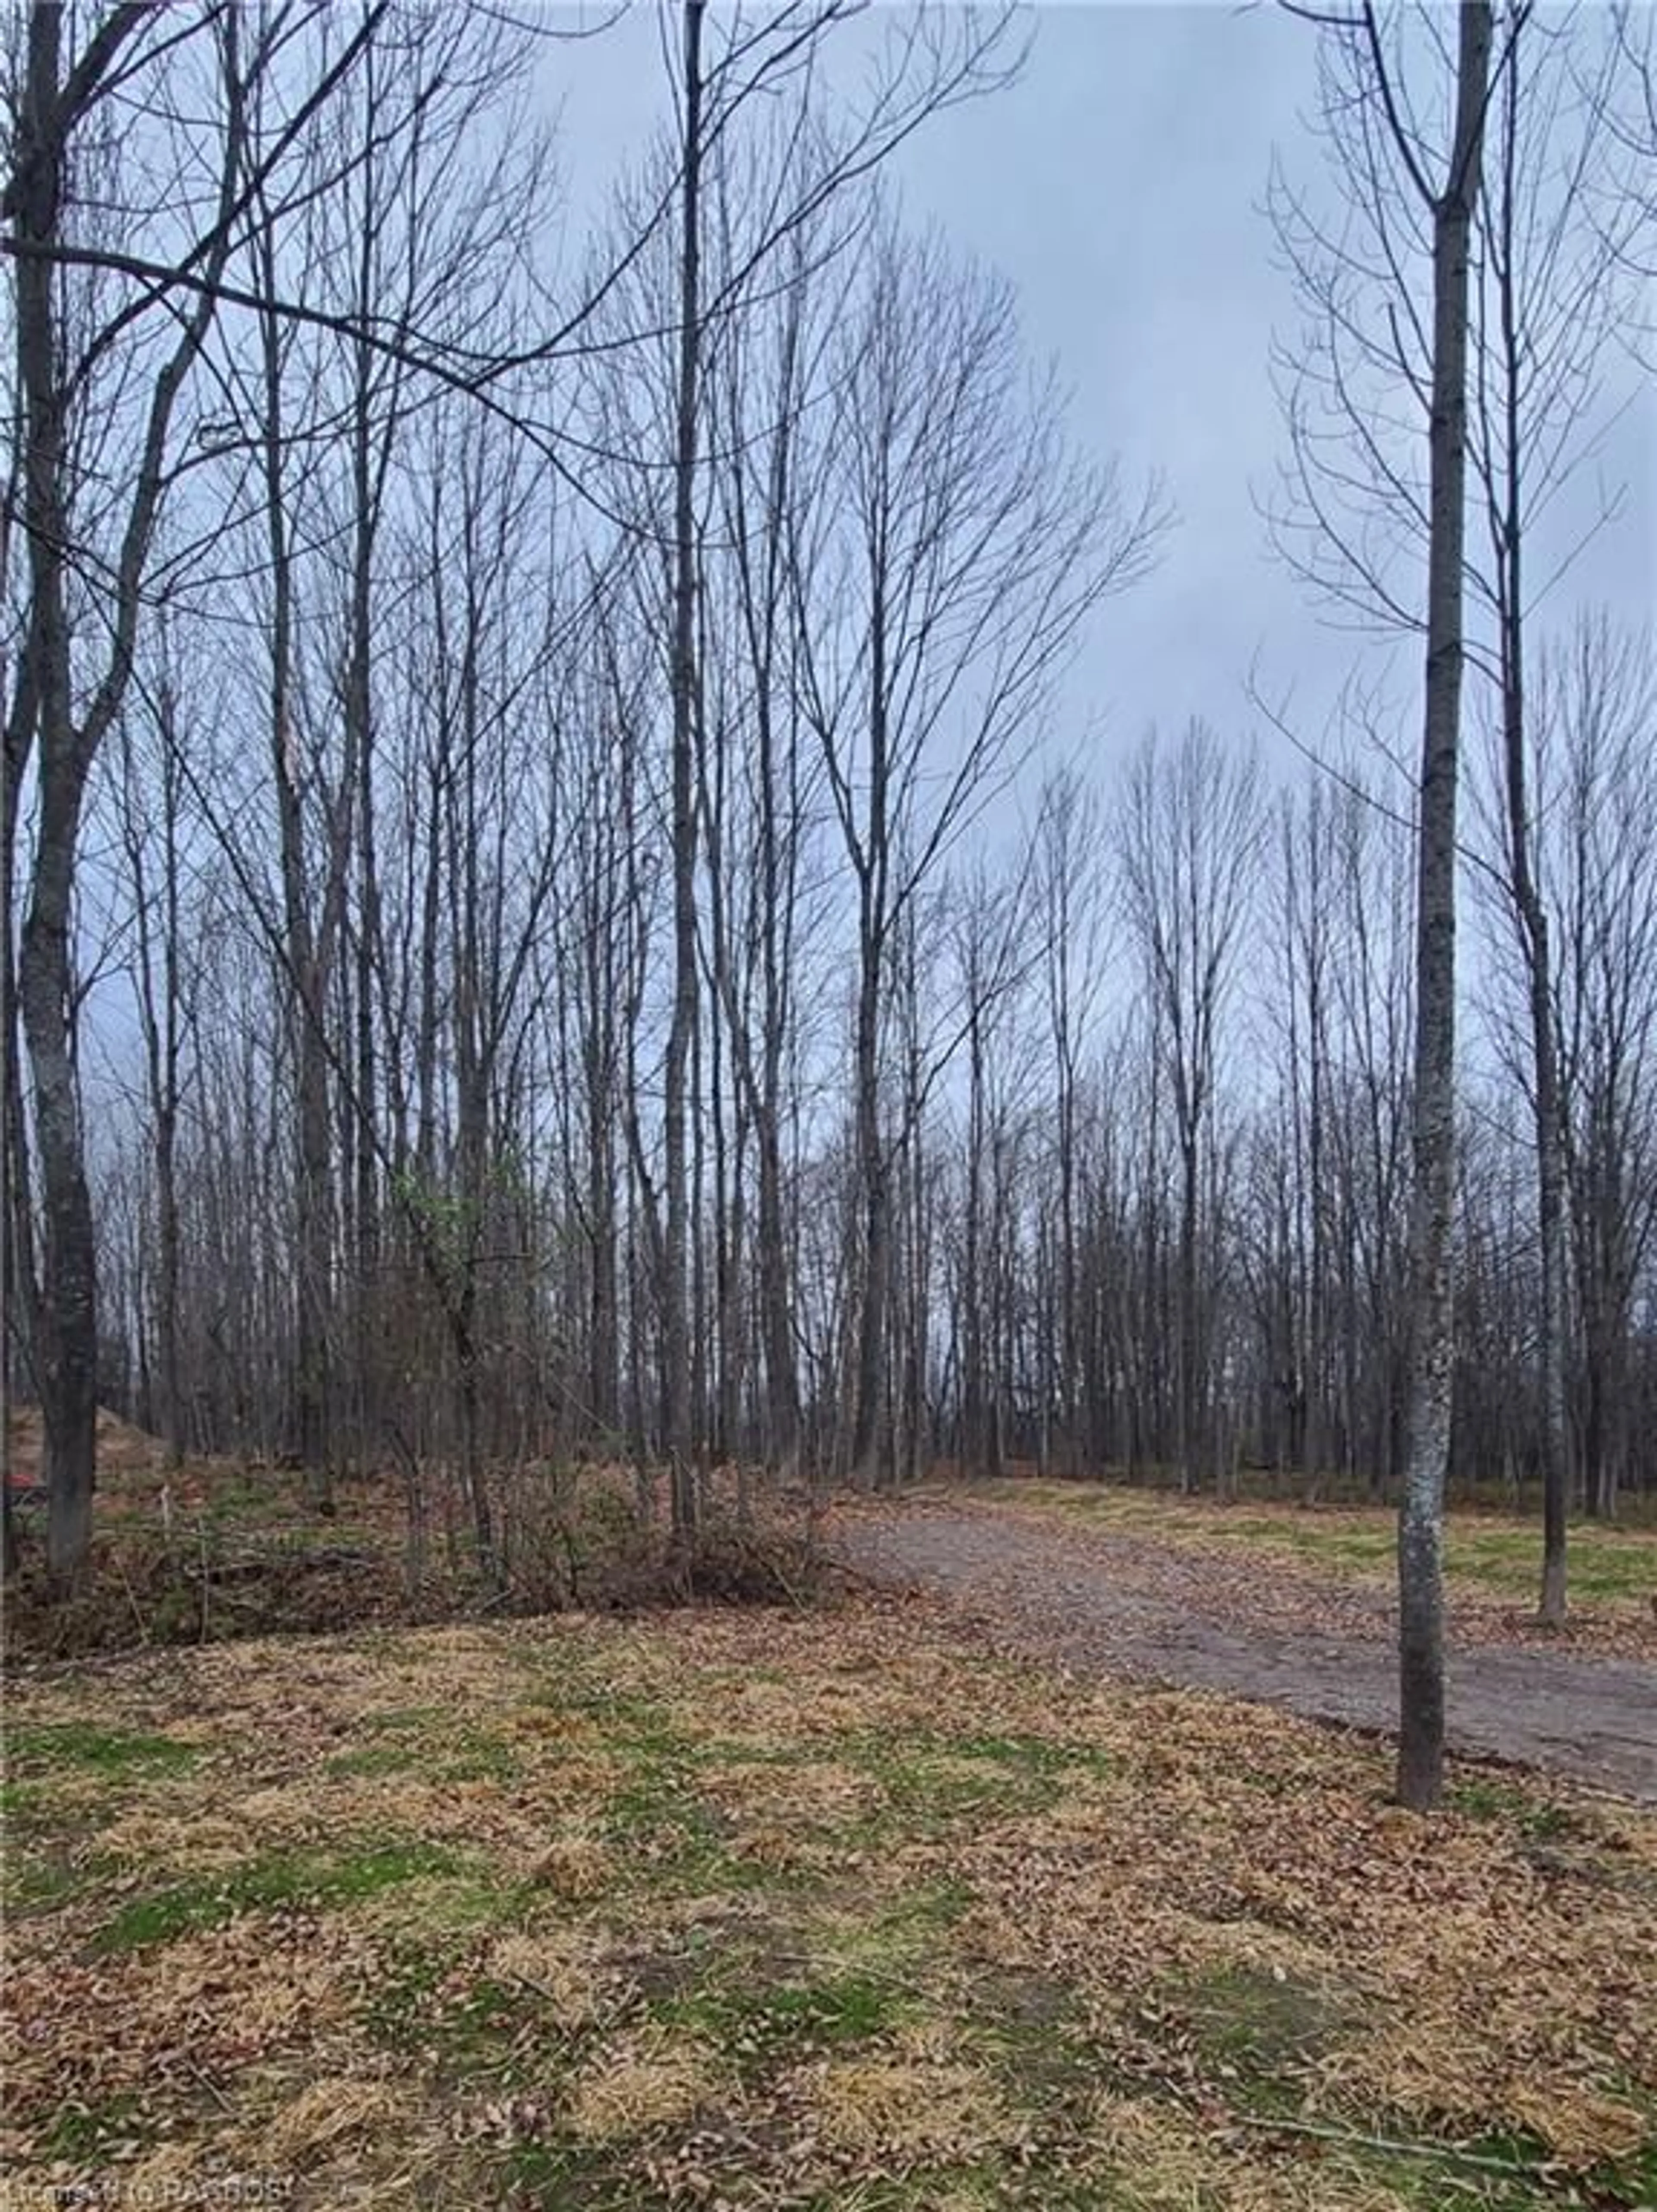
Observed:
[[[1394,1723],[1389,1608],[1372,1588],[978,1504],[854,1511],[836,1544],[856,1571],[936,1590],[1000,1641],[1077,1670]],[[1657,1666],[1462,1644],[1449,1741],[1657,1803]]]

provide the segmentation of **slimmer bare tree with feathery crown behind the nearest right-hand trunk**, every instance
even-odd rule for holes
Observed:
[[[1431,18],[1365,7],[1332,22],[1323,44],[1323,131],[1338,170],[1345,228],[1274,179],[1279,239],[1312,312],[1307,358],[1281,363],[1292,460],[1274,538],[1314,588],[1363,624],[1422,630],[1416,562],[1431,553],[1429,438],[1411,418],[1434,405],[1438,327],[1427,310],[1436,254],[1425,124],[1405,49],[1422,44],[1431,86],[1456,82],[1456,58]],[[1409,35],[1405,35],[1409,24]],[[1504,801],[1496,812],[1511,922],[1529,962],[1535,1126],[1540,1438],[1544,1469],[1542,1615],[1564,1617],[1564,1201],[1557,1040],[1549,1022],[1551,918],[1535,889],[1526,792],[1526,622],[1617,498],[1569,518],[1571,540],[1542,571],[1538,524],[1597,462],[1617,411],[1604,367],[1626,325],[1628,252],[1644,210],[1637,190],[1606,192],[1613,148],[1637,102],[1630,49],[1613,18],[1540,20],[1526,4],[1493,18],[1498,46],[1478,117],[1487,188],[1473,195],[1469,246],[1469,469],[1482,529],[1465,535],[1465,653],[1484,672],[1502,730]]]

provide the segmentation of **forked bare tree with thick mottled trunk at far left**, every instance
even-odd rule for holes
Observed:
[[[97,1418],[97,1261],[86,1181],[86,1141],[73,1055],[73,883],[86,783],[133,677],[144,584],[168,482],[175,416],[212,321],[212,285],[173,323],[148,367],[146,398],[131,425],[128,495],[100,549],[113,580],[100,619],[97,666],[77,668],[75,577],[91,555],[77,513],[71,447],[93,358],[113,343],[128,310],[115,310],[71,358],[58,250],[73,223],[73,148],[111,82],[159,75],[210,55],[219,115],[219,181],[208,230],[190,259],[208,279],[230,252],[241,175],[248,73],[239,22],[210,11],[179,44],[146,9],[113,9],[80,53],[64,51],[64,13],[29,13],[4,217],[15,272],[13,332],[22,392],[22,522],[29,540],[29,637],[7,732],[9,770],[33,750],[40,810],[18,962],[18,1000],[33,1068],[35,1141],[44,1190],[40,1298],[40,1394],[46,1420],[49,1568],[77,1577],[91,1548]],[[179,49],[175,53],[173,49]],[[15,823],[9,823],[15,827]]]

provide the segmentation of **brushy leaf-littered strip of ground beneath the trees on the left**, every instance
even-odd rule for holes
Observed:
[[[0,1659],[221,1644],[564,1610],[677,1606],[692,1597],[796,1601],[821,1579],[803,1493],[743,1495],[719,1469],[695,1542],[675,1544],[666,1475],[642,1495],[617,1462],[491,1462],[493,1573],[454,1469],[336,1473],[330,1495],[259,1460],[188,1458],[108,1411],[97,1416],[91,1575],[64,1597],[46,1577],[38,1413],[11,1422],[22,1571],[7,1588]],[[748,1511],[743,1511],[748,1506]]]

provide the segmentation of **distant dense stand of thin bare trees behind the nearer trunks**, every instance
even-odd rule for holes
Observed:
[[[1564,644],[1553,679],[1544,880],[1571,942],[1566,1407],[1577,1502],[1613,1511],[1617,1491],[1657,1480],[1653,690],[1646,655],[1591,626]],[[648,801],[617,759],[617,701],[597,675],[580,697],[593,719],[571,732],[569,761],[549,763],[540,743],[533,765],[511,748],[487,774],[460,759],[449,792],[416,757],[411,787],[385,810],[398,823],[374,982],[394,1068],[372,1183],[385,1234],[365,1279],[338,1190],[325,1245],[321,1374],[341,1460],[381,1458],[385,1420],[420,1451],[456,1455],[467,1356],[493,1455],[657,1449],[664,1433],[653,1210],[666,1009],[650,1004],[644,956],[666,885],[659,863],[626,849]],[[434,719],[440,699],[434,679]],[[142,737],[135,745],[142,757]],[[1307,774],[1268,796],[1254,779],[1252,880],[1232,883],[1223,909],[1164,916],[1168,933],[1190,922],[1215,945],[1234,938],[1239,958],[1212,978],[1195,969],[1190,1000],[1179,995],[1190,971],[1148,987],[1130,920],[1135,854],[1115,843],[1137,836],[1142,792],[1170,825],[1195,810],[1192,845],[1212,838],[1234,805],[1232,790],[1197,779],[1217,748],[1197,728],[1146,750],[1082,821],[1075,785],[1053,783],[1009,869],[962,869],[898,945],[878,1057],[896,1225],[883,1327],[894,1449],[914,1429],[923,1460],[984,1471],[1177,1467],[1226,1486],[1250,1462],[1301,1471],[1307,1486],[1358,1480],[1374,1495],[1398,1473],[1409,841],[1356,787],[1356,763],[1354,787]],[[1234,765],[1239,748],[1226,757]],[[812,763],[794,768],[807,781]],[[139,962],[153,962],[146,989],[181,1113],[164,1139],[148,1044],[119,1040],[119,1084],[100,1073],[93,1135],[104,1396],[179,1449],[301,1451],[285,971],[210,845],[168,887],[168,845],[199,825],[188,810],[184,823],[168,814],[166,787],[153,754],[155,812],[131,847],[135,876],[155,880],[153,907],[142,931],[137,907],[126,920]],[[544,825],[542,807],[562,818]],[[569,889],[555,900],[540,867],[549,847],[518,845],[524,823],[557,841]],[[779,1460],[803,1425],[816,1464],[852,1462],[863,1192],[852,938],[850,918],[836,927],[832,914],[847,894],[830,827],[821,812],[801,827],[796,905],[779,914],[752,880],[734,898],[743,929],[781,920],[799,945],[774,1046],[774,1137],[746,1068],[765,1046],[763,1006],[743,1006],[765,991],[763,958],[743,960],[701,1009],[701,1455]],[[737,869],[772,872],[763,843]],[[1170,898],[1181,880],[1170,874]],[[352,907],[343,927],[356,927]],[[712,964],[712,942],[704,953]],[[1544,1376],[1524,998],[1502,953],[1491,942],[1462,1091],[1456,1469],[1520,1491],[1542,1473]],[[1173,1055],[1190,1037],[1201,1119],[1177,1104]],[[334,1168],[356,1110],[347,1075],[330,1071]],[[772,1358],[777,1276],[788,1329]],[[372,1365],[347,1334],[361,1298],[376,1314]]]

